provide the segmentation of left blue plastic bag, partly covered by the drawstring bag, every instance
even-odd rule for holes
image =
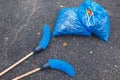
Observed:
[[[74,7],[63,8],[60,10],[52,35],[53,37],[68,34],[84,36],[91,35],[91,33],[84,28],[83,23],[79,20],[78,9],[78,7]]]

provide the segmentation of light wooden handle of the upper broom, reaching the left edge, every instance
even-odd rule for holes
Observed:
[[[7,73],[8,71],[10,71],[11,69],[13,69],[15,66],[17,66],[18,64],[20,64],[21,62],[23,62],[24,60],[26,60],[27,58],[29,58],[30,56],[32,56],[34,53],[31,52],[29,53],[27,56],[25,56],[24,58],[20,59],[19,61],[17,61],[16,63],[14,63],[12,66],[8,67],[7,69],[5,69],[4,71],[2,71],[0,73],[0,76],[4,75],[5,73]]]

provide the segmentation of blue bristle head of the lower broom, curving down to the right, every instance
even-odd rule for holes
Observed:
[[[75,76],[75,70],[69,63],[58,59],[50,59],[48,62],[50,64],[50,68],[61,70],[72,77]]]

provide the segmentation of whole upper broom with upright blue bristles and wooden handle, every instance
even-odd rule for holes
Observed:
[[[26,60],[27,58],[29,58],[33,54],[39,53],[42,50],[46,49],[46,47],[48,46],[49,42],[50,42],[50,27],[47,24],[45,24],[44,27],[43,27],[43,36],[42,36],[42,39],[40,40],[39,45],[34,49],[34,51],[31,52],[31,53],[29,53],[27,56],[25,56],[24,58],[20,59],[16,63],[14,63],[9,68],[7,68],[4,71],[2,71],[0,73],[0,76],[4,75],[5,73],[7,73],[11,69],[13,69],[15,66],[17,66],[18,64],[20,64],[21,62],[23,62],[24,60]]]

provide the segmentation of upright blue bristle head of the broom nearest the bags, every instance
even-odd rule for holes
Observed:
[[[42,49],[45,49],[50,42],[50,27],[47,24],[44,24],[43,26],[43,36],[41,41],[39,42],[39,45],[42,47]]]

